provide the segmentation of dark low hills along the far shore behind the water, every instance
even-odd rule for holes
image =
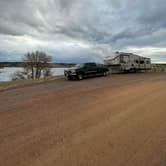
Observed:
[[[50,63],[52,68],[59,67],[72,67],[75,64],[73,63]],[[25,64],[23,62],[0,62],[0,67],[24,67]]]

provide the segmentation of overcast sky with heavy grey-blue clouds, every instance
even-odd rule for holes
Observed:
[[[166,62],[165,0],[0,0],[0,61],[45,51],[57,62],[115,51]]]

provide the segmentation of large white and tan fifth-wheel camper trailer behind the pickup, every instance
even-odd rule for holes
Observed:
[[[105,65],[111,70],[125,71],[146,71],[151,69],[151,59],[132,53],[116,52],[115,58],[105,58]]]

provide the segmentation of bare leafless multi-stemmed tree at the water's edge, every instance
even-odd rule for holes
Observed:
[[[51,56],[44,52],[36,51],[27,53],[23,57],[24,70],[28,73],[27,77],[39,79],[50,74]]]

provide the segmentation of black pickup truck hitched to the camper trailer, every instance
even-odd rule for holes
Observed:
[[[97,75],[106,76],[108,68],[104,65],[97,65],[96,63],[81,63],[73,68],[64,71],[64,75],[69,79],[82,80],[85,77],[92,77]]]

